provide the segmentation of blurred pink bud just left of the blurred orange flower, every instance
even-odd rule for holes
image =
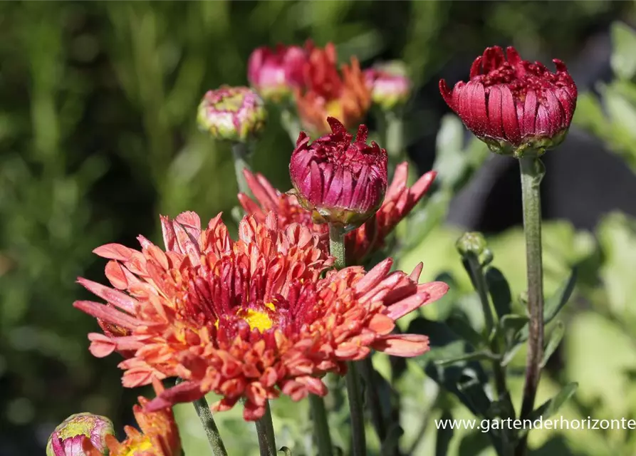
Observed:
[[[249,56],[247,78],[266,100],[280,101],[303,86],[303,69],[308,59],[308,47],[283,46],[275,50],[256,48]]]

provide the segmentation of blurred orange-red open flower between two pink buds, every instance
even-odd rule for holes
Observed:
[[[355,58],[342,66],[342,76],[336,66],[333,43],[325,48],[311,48],[305,64],[303,88],[296,89],[296,105],[303,128],[321,135],[328,133],[328,117],[340,119],[352,128],[365,117],[371,105],[371,93]]]

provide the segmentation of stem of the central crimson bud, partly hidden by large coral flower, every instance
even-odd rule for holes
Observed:
[[[338,224],[329,224],[329,249],[335,258],[335,269],[345,267],[345,229]],[[351,431],[353,434],[353,455],[366,456],[365,415],[363,410],[360,376],[355,362],[347,363],[347,394],[349,398],[349,413],[351,415]]]

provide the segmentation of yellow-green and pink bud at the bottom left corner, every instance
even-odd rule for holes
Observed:
[[[75,413],[48,437],[46,456],[85,456],[82,445],[85,439],[90,440],[102,455],[108,455],[107,435],[115,435],[113,422],[108,418],[92,413]]]

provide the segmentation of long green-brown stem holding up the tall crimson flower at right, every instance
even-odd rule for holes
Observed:
[[[541,376],[543,357],[543,264],[541,262],[541,179],[543,163],[537,157],[521,157],[521,192],[523,196],[523,232],[526,234],[526,266],[528,274],[528,354],[526,384],[523,387],[521,418],[534,408],[534,399]],[[516,448],[516,455],[526,454],[527,435]]]

